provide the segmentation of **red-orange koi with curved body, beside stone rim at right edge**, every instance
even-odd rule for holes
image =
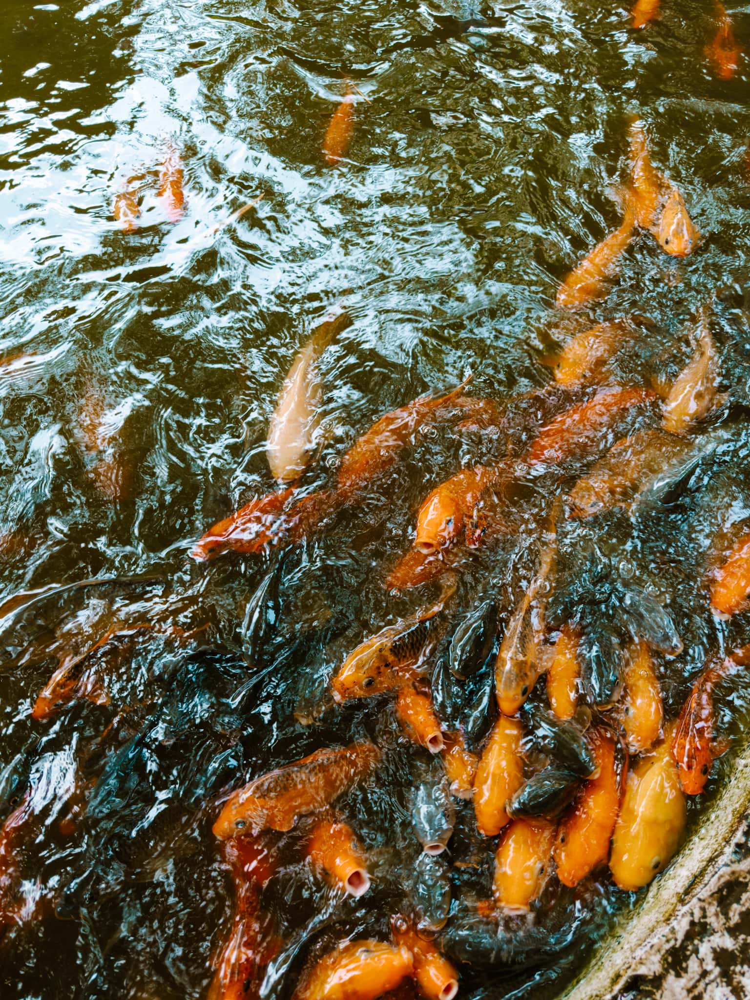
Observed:
[[[672,740],[672,753],[680,771],[680,784],[686,795],[699,795],[708,781],[711,764],[728,747],[714,736],[714,699],[716,685],[738,666],[746,666],[750,647],[728,656],[719,666],[710,666],[693,684],[682,706]]]

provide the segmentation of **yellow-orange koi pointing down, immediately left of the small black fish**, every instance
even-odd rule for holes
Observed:
[[[522,736],[521,722],[501,715],[479,758],[474,812],[477,829],[485,837],[494,837],[509,821],[506,805],[523,784]]]

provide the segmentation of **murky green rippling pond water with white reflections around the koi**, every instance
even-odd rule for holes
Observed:
[[[750,11],[730,13],[750,50]],[[11,868],[13,891],[18,875],[37,907],[0,945],[3,998],[204,996],[232,907],[211,834],[216,797],[320,746],[367,737],[389,748],[377,794],[359,789],[346,805],[372,851],[373,890],[338,902],[291,835],[264,896],[284,946],[262,995],[290,996],[320,940],[384,936],[412,898],[419,847],[406,789],[418,752],[382,702],[298,720],[325,704],[343,654],[419,604],[383,586],[415,511],[462,465],[496,459],[498,441],[452,428],[421,436],[361,508],[283,558],[199,565],[188,554],[273,488],[265,440],[277,393],[333,305],[354,322],[321,362],[308,492],[375,419],[422,392],[469,371],[471,394],[493,399],[546,383],[539,354],[559,324],[559,281],[619,221],[633,113],[703,241],[677,261],[641,236],[586,316],[649,317],[657,356],[699,304],[732,290],[717,310],[727,400],[714,423],[736,450],[687,507],[640,533],[615,518],[566,544],[575,553],[593,539],[624,576],[671,598],[686,649],[662,663],[669,715],[709,650],[747,641],[742,615],[724,625],[707,614],[697,568],[717,510],[722,524],[750,517],[750,63],[715,79],[704,55],[713,16],[708,3],[663,0],[661,20],[635,32],[622,7],[576,0],[5,0],[0,358],[33,357],[0,367],[0,591],[153,579],[65,593],[0,621],[13,665],[0,676],[0,819],[34,790]],[[349,158],[331,168],[321,144],[345,77],[370,103],[357,101]],[[174,224],[156,197],[169,148],[185,170]],[[141,217],[125,234],[112,205],[133,177]],[[86,437],[92,409],[105,448]],[[102,456],[117,463],[115,501],[97,478]],[[512,608],[536,551],[531,521],[476,557],[461,610],[487,581]],[[247,601],[264,581],[278,598],[251,628]],[[53,654],[85,649],[124,614],[211,629],[188,658],[168,637],[139,645],[108,679],[109,706],[76,702],[31,720]],[[446,714],[461,715],[479,686],[458,707],[443,693]],[[88,808],[84,796],[71,832],[60,823],[81,788]],[[462,893],[489,891],[492,859],[479,858],[470,807],[454,837],[460,919]],[[604,879],[550,904],[542,933],[565,969],[622,896]],[[467,969],[462,995],[515,996],[526,983],[529,995],[554,992],[544,985],[554,956],[538,959],[539,940],[523,940],[525,971]]]

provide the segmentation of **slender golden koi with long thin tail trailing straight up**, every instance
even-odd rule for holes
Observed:
[[[537,572],[505,627],[495,661],[495,693],[503,715],[515,715],[528,698],[544,667],[540,653],[544,635],[544,601],[539,599],[557,558],[557,504]]]

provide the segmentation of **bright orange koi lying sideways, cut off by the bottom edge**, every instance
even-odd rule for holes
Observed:
[[[376,1000],[413,972],[414,958],[403,945],[349,941],[303,973],[295,1000]]]

